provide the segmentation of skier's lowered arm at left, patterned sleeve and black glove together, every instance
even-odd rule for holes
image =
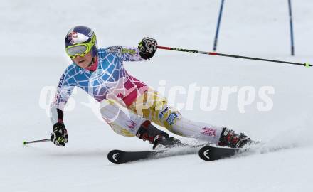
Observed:
[[[51,141],[57,146],[65,146],[65,143],[68,142],[68,132],[63,123],[63,109],[74,88],[74,86],[68,82],[68,76],[65,70],[65,73],[63,73],[58,83],[55,99],[51,103],[51,122],[53,124]]]

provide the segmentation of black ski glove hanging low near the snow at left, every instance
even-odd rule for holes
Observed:
[[[65,146],[65,143],[68,142],[68,131],[65,129],[65,125],[57,122],[53,125],[52,129],[51,142],[57,146]]]

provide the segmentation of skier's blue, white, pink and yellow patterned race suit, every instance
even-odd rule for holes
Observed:
[[[140,60],[144,59],[138,48],[111,46],[98,49],[95,64],[88,69],[75,63],[69,65],[60,78],[51,104],[51,122],[63,122],[65,104],[73,88],[80,87],[101,103],[103,119],[118,134],[134,136],[141,124],[149,119],[175,134],[218,144],[222,127],[185,119],[174,107],[167,106],[164,97],[127,73],[123,62]],[[139,112],[137,106],[147,102],[143,101],[144,97],[152,98],[152,102],[150,100],[151,105]],[[162,105],[156,105],[156,102]]]

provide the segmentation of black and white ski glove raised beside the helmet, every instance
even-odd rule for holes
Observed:
[[[157,40],[154,38],[143,38],[138,45],[140,56],[144,59],[152,58],[157,51],[157,46]]]

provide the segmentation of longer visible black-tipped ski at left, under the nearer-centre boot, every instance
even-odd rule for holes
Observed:
[[[186,154],[196,154],[198,149],[206,144],[197,146],[179,146],[163,150],[151,150],[151,151],[122,151],[112,150],[107,154],[107,159],[114,164],[124,164],[130,161],[139,161],[145,159],[159,159],[168,156],[179,156]]]

